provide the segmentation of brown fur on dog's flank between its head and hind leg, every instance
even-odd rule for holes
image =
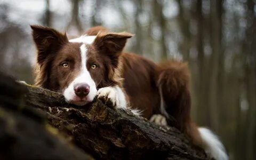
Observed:
[[[142,110],[142,115],[150,118],[159,113],[160,97],[154,81],[156,65],[134,53],[123,53],[124,89],[130,98],[132,108]]]

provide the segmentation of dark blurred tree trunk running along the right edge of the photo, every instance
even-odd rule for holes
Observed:
[[[247,21],[248,28],[246,30],[245,38],[245,84],[246,84],[246,95],[249,104],[248,116],[246,124],[247,136],[246,136],[246,159],[255,159],[255,134],[256,134],[256,17],[254,14],[255,2],[252,0],[247,1]]]

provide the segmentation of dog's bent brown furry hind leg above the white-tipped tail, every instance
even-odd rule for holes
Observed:
[[[159,64],[157,84],[161,96],[161,114],[169,125],[186,132],[190,124],[189,71],[186,63],[170,61]]]

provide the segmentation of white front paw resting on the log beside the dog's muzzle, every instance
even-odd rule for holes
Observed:
[[[103,87],[98,90],[97,95],[107,106],[126,108],[125,95],[118,86]]]

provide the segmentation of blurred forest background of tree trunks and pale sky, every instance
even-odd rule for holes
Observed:
[[[126,51],[188,61],[191,114],[230,159],[256,159],[256,5],[253,0],[0,0],[0,70],[33,83],[29,25],[68,35],[103,25],[129,31]]]

